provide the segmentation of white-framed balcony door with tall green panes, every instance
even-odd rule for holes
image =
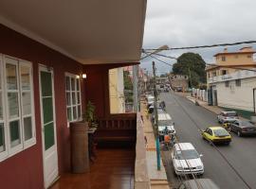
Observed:
[[[53,71],[40,67],[41,122],[44,149],[44,179],[47,188],[58,176]]]

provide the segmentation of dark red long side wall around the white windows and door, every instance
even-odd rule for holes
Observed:
[[[36,121],[35,146],[0,163],[0,188],[41,189],[44,186],[38,64],[53,67],[60,173],[70,169],[69,129],[66,126],[64,72],[82,74],[82,64],[0,25],[0,53],[33,62]],[[84,96],[82,80],[82,96]],[[84,97],[82,97],[84,107]]]

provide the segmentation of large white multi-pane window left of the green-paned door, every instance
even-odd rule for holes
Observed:
[[[0,55],[0,161],[36,143],[32,65]]]

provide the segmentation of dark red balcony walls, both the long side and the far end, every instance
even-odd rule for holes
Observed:
[[[35,146],[31,146],[0,163],[0,188],[41,189],[44,188],[44,176],[38,64],[51,66],[54,71],[57,146],[59,171],[62,174],[65,171],[70,171],[70,142],[69,129],[66,126],[64,73],[76,75],[81,75],[82,72],[86,73],[87,78],[82,79],[82,112],[84,112],[85,101],[91,100],[96,105],[97,115],[106,117],[109,116],[110,112],[108,70],[136,63],[84,66],[2,25],[0,25],[0,53],[33,63],[37,140]]]

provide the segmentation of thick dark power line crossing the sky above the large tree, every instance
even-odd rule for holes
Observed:
[[[237,42],[237,43],[219,43],[219,44],[210,44],[210,45],[199,45],[199,46],[185,46],[185,47],[173,47],[163,50],[182,50],[182,49],[193,49],[193,48],[212,48],[212,47],[218,47],[218,46],[233,46],[238,44],[249,44],[249,43],[256,43],[256,41],[246,41],[246,42]],[[153,51],[157,50],[157,48],[144,48],[143,51]],[[163,51],[162,50],[162,51]]]

